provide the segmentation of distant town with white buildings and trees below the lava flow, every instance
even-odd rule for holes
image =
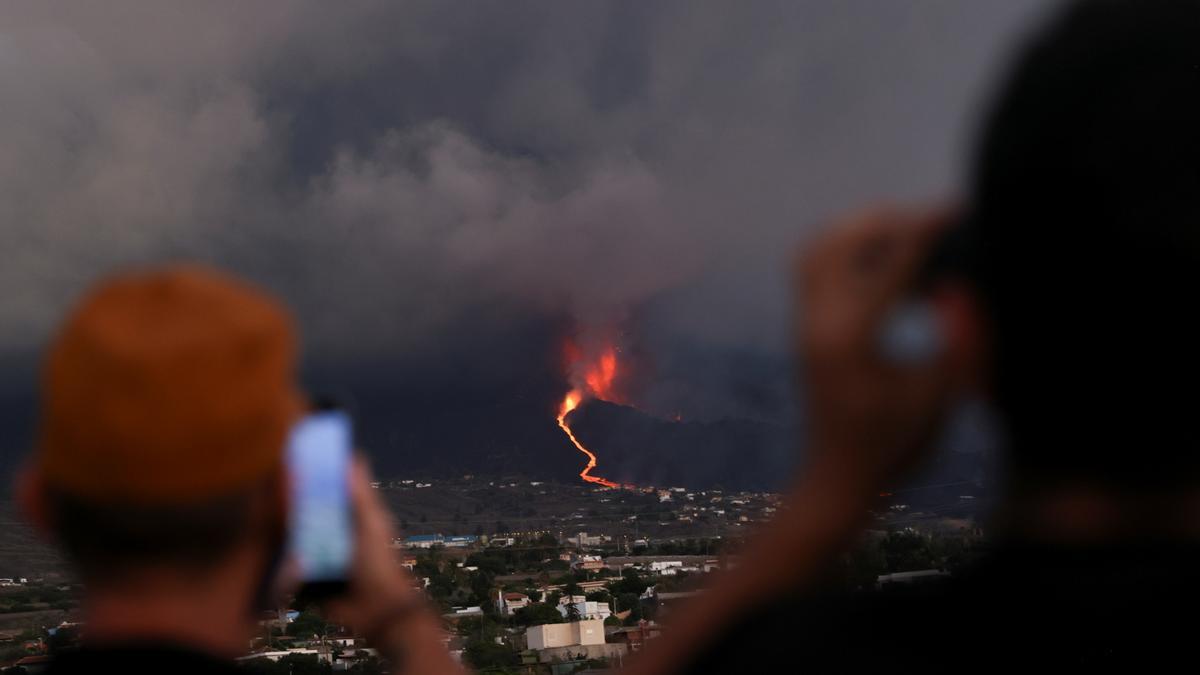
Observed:
[[[661,632],[714,574],[738,574],[738,549],[780,509],[770,492],[605,488],[528,477],[394,478],[379,490],[401,538],[397,565],[437,603],[446,647],[490,673],[560,674],[619,667]],[[937,485],[943,492],[946,485]],[[978,486],[947,503],[881,495],[876,524],[835,583],[872,592],[953,574],[986,546]],[[12,518],[0,557],[0,665],[36,675],[86,631],[78,585]],[[264,615],[246,645],[252,673],[386,673],[386,663],[316,607]]]

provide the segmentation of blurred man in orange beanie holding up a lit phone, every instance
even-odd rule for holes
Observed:
[[[78,651],[52,674],[235,673],[287,591],[284,438],[304,406],[288,312],[197,265],[124,274],[49,347],[28,518],[84,584]],[[356,550],[330,615],[394,661],[455,673],[439,619],[392,558],[365,464],[350,476]]]

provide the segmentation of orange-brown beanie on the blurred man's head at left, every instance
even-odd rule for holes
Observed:
[[[106,503],[184,503],[281,467],[301,410],[288,312],[198,265],[92,289],[50,345],[36,462]]]

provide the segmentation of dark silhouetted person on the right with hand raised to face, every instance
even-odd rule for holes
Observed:
[[[962,208],[869,209],[805,252],[806,470],[630,670],[1187,663],[1198,273],[1200,2],[1061,8],[985,117]],[[914,294],[942,348],[884,359],[881,327]],[[1006,436],[990,555],[930,584],[835,590],[880,491],[978,393]]]

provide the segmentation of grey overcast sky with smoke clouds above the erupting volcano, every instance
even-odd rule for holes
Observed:
[[[952,195],[1052,2],[49,5],[0,5],[0,364],[187,258],[286,298],[311,368],[469,388],[575,331],[720,417],[786,399],[792,247]]]

